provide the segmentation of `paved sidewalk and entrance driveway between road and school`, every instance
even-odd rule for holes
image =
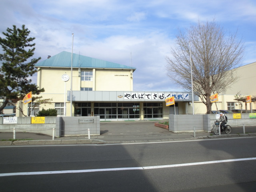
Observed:
[[[116,122],[100,122],[100,135],[90,136],[65,136],[54,138],[52,136],[17,132],[16,139],[26,139],[18,141],[1,141],[0,145],[36,145],[36,144],[110,144],[110,143],[131,143],[131,142],[164,142],[174,140],[194,140],[219,137],[240,137],[240,136],[256,136],[256,127],[247,127],[243,134],[242,127],[232,128],[231,134],[221,132],[221,135],[213,133],[182,132],[174,133],[164,128],[154,126],[155,121],[116,121]],[[0,133],[0,140],[9,140],[13,138],[13,133]],[[32,139],[32,140],[28,140]]]

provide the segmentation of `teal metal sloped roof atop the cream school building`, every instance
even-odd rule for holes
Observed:
[[[70,52],[60,52],[42,62],[39,62],[35,67],[61,67],[70,68],[71,67],[71,54]],[[79,54],[73,53],[73,64],[74,68],[116,68],[116,69],[130,69],[130,66],[121,65],[109,61],[104,61],[96,58],[91,58]],[[136,70],[136,68],[132,68]]]

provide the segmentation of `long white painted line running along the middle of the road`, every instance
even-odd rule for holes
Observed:
[[[101,171],[159,169],[159,168],[172,168],[172,167],[204,165],[204,164],[212,164],[212,163],[248,161],[248,160],[256,160],[256,157],[253,157],[253,158],[241,158],[241,159],[218,160],[218,161],[206,161],[206,162],[196,162],[196,163],[173,164],[173,165],[161,165],[161,166],[146,166],[146,167],[124,167],[124,168],[87,169],[87,170],[64,170],[64,171],[0,173],[0,177],[4,177],[4,176],[20,176],[20,175],[44,175],[44,174],[86,173],[86,172],[101,172]]]

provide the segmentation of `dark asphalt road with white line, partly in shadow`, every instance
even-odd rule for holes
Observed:
[[[255,137],[3,146],[0,154],[1,192],[256,191]]]

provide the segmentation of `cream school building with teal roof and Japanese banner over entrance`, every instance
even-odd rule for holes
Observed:
[[[90,58],[70,52],[60,52],[35,65],[38,69],[37,85],[44,88],[40,94],[52,99],[51,104],[41,105],[33,111],[55,108],[58,116],[100,116],[100,120],[162,120],[169,114],[192,114],[191,92],[150,92],[133,90],[133,73],[136,68]],[[240,79],[219,94],[219,102],[212,110],[239,109],[234,95],[256,95],[253,86],[256,62],[236,68]],[[174,105],[166,106],[165,99],[175,97]],[[21,104],[22,105],[22,104]],[[30,104],[22,105],[28,114]],[[249,109],[250,107],[248,107]],[[252,102],[255,109],[255,102]],[[206,106],[194,96],[194,114],[205,114]],[[16,116],[22,116],[17,110]]]

